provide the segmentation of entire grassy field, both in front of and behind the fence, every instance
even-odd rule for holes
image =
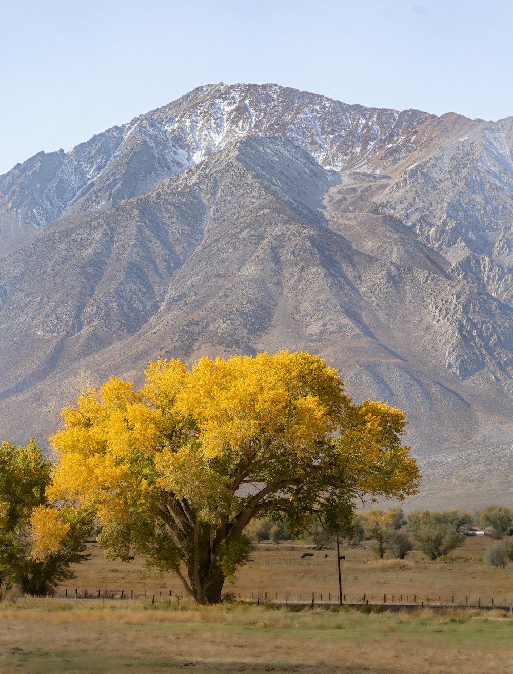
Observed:
[[[141,562],[106,562],[98,548],[77,568],[77,580],[59,588],[68,599],[18,598],[0,604],[0,674],[166,671],[298,674],[465,674],[510,672],[513,666],[513,565],[487,568],[479,558],[490,539],[467,539],[453,561],[430,562],[414,553],[406,563],[374,561],[364,546],[344,547],[346,601],[366,598],[380,611],[317,605],[337,595],[336,555],[301,559],[304,545],[261,544],[253,562],[226,590],[253,602],[195,607],[172,578],[141,579]],[[329,555],[324,557],[324,555]],[[118,599],[77,599],[88,590]],[[123,600],[119,599],[123,590]],[[169,591],[172,590],[171,599]],[[144,598],[146,592],[146,598]],[[159,595],[160,592],[160,595]],[[277,601],[307,601],[273,607]],[[315,593],[314,609],[310,607]],[[132,593],[134,598],[132,599]],[[481,605],[506,599],[495,611],[427,609],[480,597]],[[508,596],[509,594],[509,596]],[[391,611],[398,596],[417,595],[419,607]],[[71,596],[71,599],[69,597]],[[156,597],[152,606],[152,598]],[[430,603],[432,603],[430,601]]]

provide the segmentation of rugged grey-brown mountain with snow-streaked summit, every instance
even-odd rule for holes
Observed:
[[[406,410],[423,503],[511,499],[512,152],[511,118],[220,83],[18,164],[0,434],[44,438],[81,370],[304,348]]]

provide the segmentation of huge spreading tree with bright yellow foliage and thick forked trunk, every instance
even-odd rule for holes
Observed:
[[[137,551],[198,603],[219,601],[246,561],[254,518],[317,512],[335,526],[357,495],[417,491],[404,413],[353,404],[316,356],[160,360],[145,373],[141,390],[112,377],[63,408],[48,496],[94,508],[110,555]]]

